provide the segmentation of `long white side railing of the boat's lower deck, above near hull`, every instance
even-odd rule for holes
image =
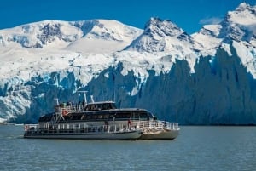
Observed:
[[[83,133],[122,133],[137,130],[137,127],[132,127],[129,124],[109,124],[109,125],[82,125],[82,124],[67,124],[63,125],[47,125],[40,128],[38,124],[26,124],[24,126],[25,134],[83,134]]]

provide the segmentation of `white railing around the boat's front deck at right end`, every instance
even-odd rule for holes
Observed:
[[[178,123],[170,123],[160,120],[140,121],[139,128],[167,128],[171,130],[179,130]]]

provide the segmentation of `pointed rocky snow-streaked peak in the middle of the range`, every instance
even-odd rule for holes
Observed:
[[[140,37],[137,37],[126,50],[138,52],[172,52],[173,54],[188,54],[200,47],[193,37],[170,20],[151,18]]]

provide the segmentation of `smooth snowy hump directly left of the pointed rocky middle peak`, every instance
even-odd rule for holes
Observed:
[[[122,50],[137,38],[142,30],[125,26],[117,20],[85,21],[84,37],[71,43],[67,50],[86,53],[111,53]]]

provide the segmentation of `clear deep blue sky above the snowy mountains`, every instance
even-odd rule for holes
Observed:
[[[256,0],[2,0],[0,29],[40,20],[113,19],[144,27],[150,17],[172,20],[188,33],[224,18],[229,10]]]

